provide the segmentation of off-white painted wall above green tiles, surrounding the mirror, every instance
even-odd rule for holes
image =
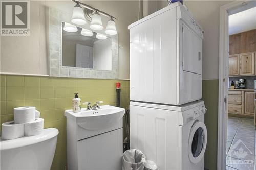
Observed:
[[[1,37],[1,72],[49,75],[48,20],[46,10],[54,7],[71,13],[72,1],[30,1],[31,35]],[[129,31],[127,26],[139,15],[139,1],[84,1],[115,16],[118,30],[118,78],[130,78]],[[103,17],[102,17],[103,18]],[[106,19],[103,25],[106,26]]]

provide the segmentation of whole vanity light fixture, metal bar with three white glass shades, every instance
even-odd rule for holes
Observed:
[[[105,13],[103,11],[100,11],[96,8],[93,8],[90,5],[81,3],[77,0],[72,0],[76,3],[76,6],[73,9],[73,15],[72,15],[72,22],[77,24],[77,25],[84,25],[86,24],[86,18],[87,20],[91,21],[90,28],[93,30],[103,30],[104,27],[102,25],[101,21],[101,15],[104,15],[106,17],[109,17],[110,20],[108,21],[108,24],[106,26],[105,33],[109,35],[115,35],[117,34],[116,31],[116,24],[114,19],[115,17],[111,16],[108,13]],[[84,16],[83,9],[81,7],[84,7],[86,10],[85,13],[86,15]]]

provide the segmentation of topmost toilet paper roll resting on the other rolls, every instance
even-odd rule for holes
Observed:
[[[35,120],[35,107],[17,107],[14,108],[14,122],[22,124]]]

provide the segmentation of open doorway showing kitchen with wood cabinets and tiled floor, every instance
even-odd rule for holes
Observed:
[[[228,11],[226,169],[255,167],[256,6]]]

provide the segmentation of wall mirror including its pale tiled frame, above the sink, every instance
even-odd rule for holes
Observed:
[[[117,35],[71,24],[69,14],[49,10],[50,76],[116,79]]]

